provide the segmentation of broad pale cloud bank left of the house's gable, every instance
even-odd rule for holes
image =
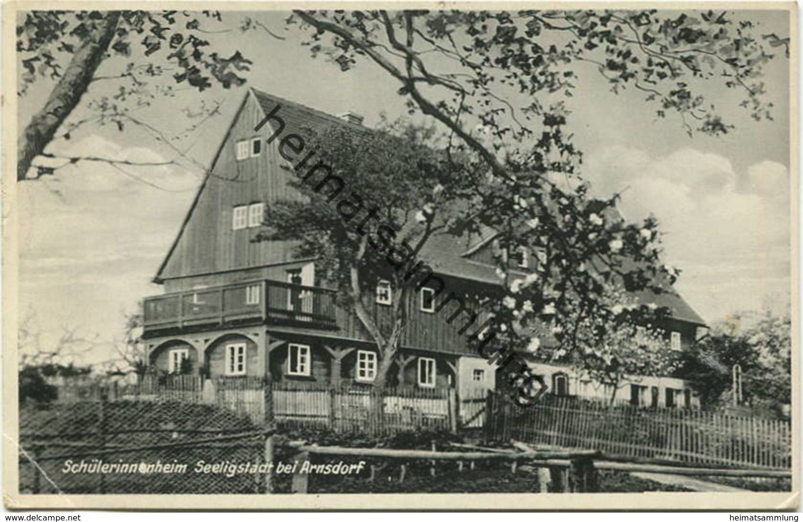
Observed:
[[[72,144],[68,153],[165,161],[150,149],[120,147],[98,136]],[[80,161],[55,177],[18,186],[20,310],[35,310],[45,340],[57,337],[61,325],[107,341],[119,337],[124,312],[135,312],[138,300],[159,292],[149,281],[200,176],[175,165],[124,169],[129,175],[108,163]]]

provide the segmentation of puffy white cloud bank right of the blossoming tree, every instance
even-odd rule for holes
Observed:
[[[789,303],[789,170],[761,161],[737,172],[728,158],[695,149],[650,157],[611,147],[589,154],[597,195],[625,190],[621,209],[654,214],[678,288],[707,320]]]

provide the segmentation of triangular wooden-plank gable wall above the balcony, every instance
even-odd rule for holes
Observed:
[[[255,242],[259,227],[234,230],[232,226],[236,206],[271,205],[298,197],[288,186],[292,173],[280,168],[276,142],[266,145],[271,127],[254,130],[263,118],[263,108],[249,92],[159,268],[156,280],[165,284],[166,292],[270,278],[275,275],[270,267],[294,261],[291,242]],[[238,160],[237,147],[243,141],[249,150]],[[259,142],[259,153],[253,153],[252,141]]]

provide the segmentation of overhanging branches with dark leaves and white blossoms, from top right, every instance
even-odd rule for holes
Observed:
[[[499,232],[507,296],[489,305],[495,335],[513,349],[526,349],[544,321],[555,321],[569,352],[604,345],[618,332],[606,324],[632,315],[606,300],[610,288],[666,292],[678,275],[661,262],[654,218],[628,223],[611,211],[616,197],[589,198],[560,102],[574,95],[584,64],[614,93],[643,92],[657,116],[679,116],[689,133],[731,128],[706,96],[711,84],[739,90],[755,119],[771,114],[761,75],[772,54],[753,22],[726,12],[296,10],[288,22],[307,31],[313,57],[343,71],[380,67],[411,113],[443,125],[448,155],[487,173],[467,194],[477,212],[453,228]],[[544,259],[514,287],[507,259],[520,247]],[[604,323],[578,335],[597,317]]]

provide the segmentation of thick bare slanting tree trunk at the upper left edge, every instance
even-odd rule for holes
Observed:
[[[109,11],[103,21],[89,31],[59,83],[55,85],[45,106],[32,118],[19,137],[17,150],[17,180],[24,180],[31,162],[53,139],[55,132],[87,92],[95,71],[104,59],[112,42],[120,11]]]

